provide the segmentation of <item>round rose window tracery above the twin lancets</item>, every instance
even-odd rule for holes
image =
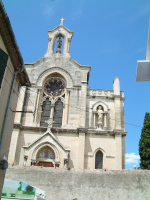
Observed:
[[[60,77],[50,77],[44,83],[44,94],[50,97],[62,96],[65,93],[66,84]]]

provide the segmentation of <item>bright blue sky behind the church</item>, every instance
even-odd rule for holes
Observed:
[[[91,65],[92,89],[113,89],[118,76],[125,91],[126,168],[138,166],[138,143],[145,112],[150,112],[150,83],[136,82],[137,60],[146,58],[149,0],[3,0],[25,63],[47,51],[47,31],[60,19],[74,31],[71,56]]]

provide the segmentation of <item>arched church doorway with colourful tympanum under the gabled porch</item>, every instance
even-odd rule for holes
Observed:
[[[54,167],[55,153],[46,146],[39,150],[37,154],[37,166]]]

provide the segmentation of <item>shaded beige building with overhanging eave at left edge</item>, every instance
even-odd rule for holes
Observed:
[[[0,196],[20,85],[30,85],[9,18],[0,0]]]

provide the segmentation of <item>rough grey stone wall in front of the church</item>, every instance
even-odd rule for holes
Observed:
[[[47,200],[149,200],[150,171],[9,167],[6,178],[46,192]]]

